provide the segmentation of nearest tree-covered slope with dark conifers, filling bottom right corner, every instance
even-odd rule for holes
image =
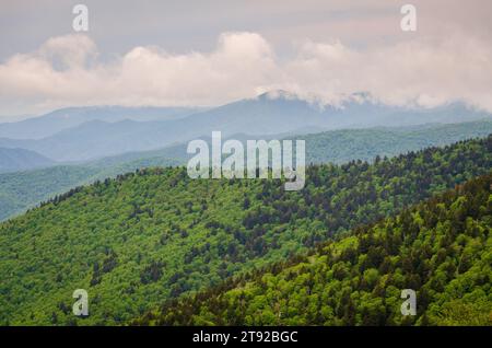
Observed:
[[[492,325],[492,174],[134,324]],[[401,289],[417,291],[403,316]]]

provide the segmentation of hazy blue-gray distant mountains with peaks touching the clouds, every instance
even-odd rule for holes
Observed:
[[[450,124],[491,118],[491,114],[477,111],[461,103],[435,108],[403,108],[373,103],[364,94],[333,107],[319,107],[288,93],[262,94],[224,106],[207,109],[181,109],[179,115],[171,113],[159,117],[122,119],[122,109],[108,113],[89,113],[77,109],[77,126],[62,129],[43,139],[0,138],[0,147],[23,148],[36,151],[56,161],[77,162],[116,155],[129,151],[147,151],[179,143],[198,137],[210,136],[221,130],[223,136],[234,134],[279,135],[307,134],[332,129],[370,128],[376,126],[401,127],[422,124]],[[362,97],[362,102],[360,102]],[[68,118],[71,118],[70,112]],[[187,114],[189,113],[189,114]],[[56,113],[55,113],[56,114]],[[58,114],[57,114],[58,115]],[[55,117],[55,116],[52,116]],[[40,117],[51,125],[50,117]],[[57,120],[60,115],[56,117]],[[84,119],[85,121],[81,121]],[[149,120],[151,119],[151,120]],[[28,121],[26,120],[24,125]],[[62,123],[61,120],[59,120]],[[22,124],[22,123],[19,123]],[[15,125],[15,124],[13,124]],[[68,124],[66,124],[68,125]],[[0,135],[5,135],[1,131]],[[10,125],[10,127],[13,127]],[[49,128],[48,126],[46,126]],[[68,127],[68,126],[67,126]],[[19,130],[21,131],[21,130]],[[22,136],[19,135],[17,136]],[[27,136],[27,135],[23,135]]]

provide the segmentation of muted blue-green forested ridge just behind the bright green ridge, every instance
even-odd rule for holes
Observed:
[[[446,146],[473,137],[487,137],[491,132],[492,121],[482,120],[400,128],[342,129],[288,138],[305,139],[306,163],[340,164],[352,160],[372,161],[376,155],[394,156],[431,146]],[[266,139],[271,137],[284,136],[268,136]],[[251,136],[234,135],[232,138],[245,142]],[[187,143],[181,143],[160,150],[124,153],[80,165],[0,174],[0,221],[24,212],[56,194],[96,179],[149,166],[185,164],[190,158],[186,148]]]

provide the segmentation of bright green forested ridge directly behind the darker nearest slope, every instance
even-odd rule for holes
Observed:
[[[169,298],[285,259],[492,167],[492,136],[280,181],[119,175],[0,224],[0,323],[120,324]],[[86,289],[90,315],[71,314]]]

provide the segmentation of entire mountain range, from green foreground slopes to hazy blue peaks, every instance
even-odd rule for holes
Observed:
[[[358,97],[0,125],[19,127],[0,139],[0,324],[488,325],[491,115]],[[213,130],[305,140],[306,186],[189,178],[187,140]]]

